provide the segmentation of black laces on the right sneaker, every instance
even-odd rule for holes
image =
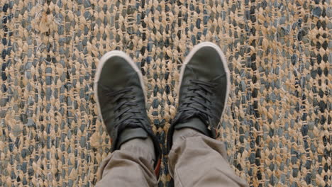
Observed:
[[[193,116],[201,118],[205,122],[209,121],[209,117],[214,113],[211,112],[211,101],[209,96],[214,94],[215,83],[190,80],[190,86],[188,86],[186,96],[179,106],[179,113],[181,113],[181,120],[187,120]]]

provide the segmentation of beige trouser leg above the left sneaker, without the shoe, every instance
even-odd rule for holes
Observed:
[[[96,186],[157,186],[154,162],[155,151],[150,138],[130,140],[101,163],[101,179]]]

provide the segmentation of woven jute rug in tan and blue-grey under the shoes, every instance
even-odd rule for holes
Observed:
[[[1,0],[0,186],[94,186],[110,142],[93,82],[110,50],[142,70],[165,154],[179,69],[202,41],[231,70],[219,139],[236,174],[331,186],[331,17],[328,0]],[[167,170],[164,155],[159,186]]]

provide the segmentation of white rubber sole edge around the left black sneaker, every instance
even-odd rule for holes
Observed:
[[[97,85],[98,85],[98,81],[100,78],[101,69],[103,69],[105,62],[107,62],[107,60],[109,60],[109,58],[111,58],[111,57],[122,57],[123,59],[126,60],[126,62],[128,62],[128,64],[131,65],[131,67],[133,67],[135,72],[138,74],[138,78],[140,79],[140,84],[143,89],[144,99],[146,101],[146,91],[145,91],[145,86],[144,86],[144,81],[143,81],[143,75],[140,72],[140,69],[138,69],[135,62],[133,62],[133,59],[131,57],[129,57],[125,52],[122,52],[122,51],[114,50],[114,51],[106,52],[106,54],[103,55],[101,57],[101,59],[99,60],[98,67],[96,68],[96,75],[94,76],[94,98],[96,99],[98,113],[99,113],[99,116],[101,118],[101,121],[103,121],[103,123],[104,123],[104,120],[103,120],[103,116],[101,115],[101,108],[100,108],[100,103],[99,103],[99,99],[98,99],[98,86]]]

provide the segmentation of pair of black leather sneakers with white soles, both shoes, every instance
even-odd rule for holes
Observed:
[[[216,138],[230,88],[226,57],[211,42],[196,45],[182,64],[179,78],[179,106],[167,134],[167,150],[175,130],[192,128]],[[145,109],[146,92],[140,69],[121,51],[107,52],[98,64],[94,84],[101,120],[111,137],[111,150],[134,138],[153,140],[158,176],[161,150]],[[195,123],[195,120],[199,123]],[[203,122],[203,123],[201,123]]]

